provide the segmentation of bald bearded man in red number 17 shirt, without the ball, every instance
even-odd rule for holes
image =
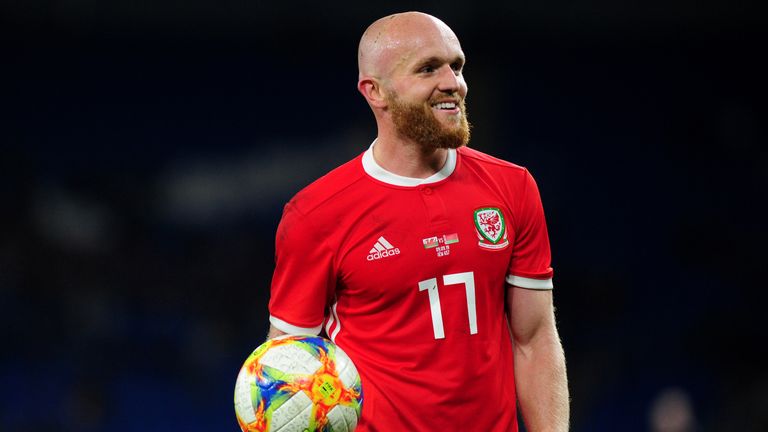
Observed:
[[[323,329],[363,382],[358,431],[568,429],[538,189],[467,148],[464,53],[432,16],[363,34],[378,136],[299,192],[276,239],[269,337]]]

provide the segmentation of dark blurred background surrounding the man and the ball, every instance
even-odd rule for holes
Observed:
[[[357,42],[413,9],[538,180],[573,430],[768,430],[757,2],[16,0],[1,431],[237,430],[282,206],[374,139]]]

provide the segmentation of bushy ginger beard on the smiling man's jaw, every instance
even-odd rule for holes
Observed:
[[[435,117],[432,102],[409,104],[394,93],[387,94],[387,101],[397,133],[418,143],[425,152],[456,149],[469,142],[471,125],[463,99],[459,101],[461,114],[453,126],[446,126]]]

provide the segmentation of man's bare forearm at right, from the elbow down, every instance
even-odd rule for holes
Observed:
[[[568,430],[568,379],[557,330],[552,327],[526,344],[515,344],[515,386],[529,432]]]

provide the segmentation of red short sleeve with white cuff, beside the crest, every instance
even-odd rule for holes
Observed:
[[[528,170],[516,204],[515,240],[507,283],[520,288],[552,289],[552,257],[544,208],[539,188]]]

